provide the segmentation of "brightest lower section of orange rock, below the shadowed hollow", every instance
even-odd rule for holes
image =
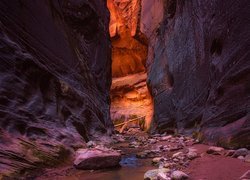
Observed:
[[[146,85],[146,73],[113,78],[111,117],[114,123],[145,116],[145,130],[150,127],[153,104]]]

